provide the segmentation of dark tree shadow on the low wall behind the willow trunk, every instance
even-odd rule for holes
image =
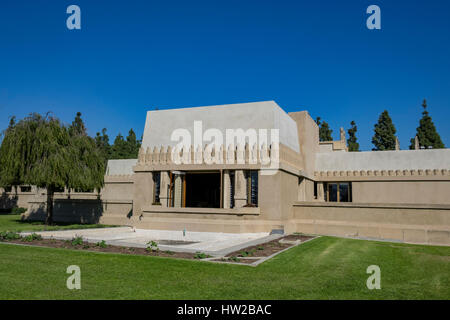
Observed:
[[[44,221],[47,215],[46,203],[30,203],[24,220]],[[97,224],[103,215],[102,201],[99,199],[55,199],[53,221],[79,224]]]

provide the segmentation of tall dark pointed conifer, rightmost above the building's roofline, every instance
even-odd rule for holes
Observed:
[[[442,149],[445,148],[441,140],[441,136],[437,133],[433,120],[427,111],[427,100],[424,99],[422,103],[422,119],[420,119],[417,127],[417,137],[419,138],[419,146],[425,149]],[[410,140],[410,149],[415,148],[414,138]]]

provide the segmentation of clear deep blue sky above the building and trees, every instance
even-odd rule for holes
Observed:
[[[67,6],[82,29],[66,28]],[[366,8],[381,8],[381,30]],[[110,140],[147,110],[275,100],[339,127],[362,149],[389,110],[401,147],[421,102],[450,146],[450,1],[0,2],[0,130],[8,118],[82,112]]]

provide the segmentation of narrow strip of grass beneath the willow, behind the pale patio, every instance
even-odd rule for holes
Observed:
[[[44,230],[66,230],[66,229],[87,229],[87,228],[105,228],[111,227],[102,224],[69,224],[55,223],[52,226],[46,226],[40,221],[22,221],[20,215],[3,214],[0,215],[0,232],[1,231],[44,231]]]

